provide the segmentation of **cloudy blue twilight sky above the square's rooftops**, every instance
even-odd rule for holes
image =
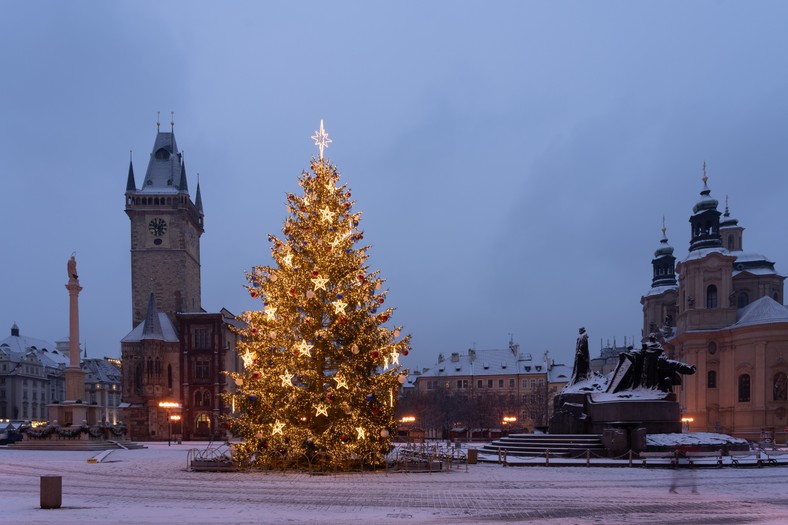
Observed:
[[[550,350],[584,325],[640,337],[662,217],[679,259],[708,162],[745,250],[788,269],[788,3],[9,1],[0,6],[0,335],[68,334],[118,356],[131,326],[129,220],[175,111],[205,208],[202,301],[259,308],[285,193],[317,153],[364,215],[413,334],[439,352]]]

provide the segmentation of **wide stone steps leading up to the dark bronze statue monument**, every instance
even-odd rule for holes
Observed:
[[[480,454],[506,452],[507,456],[585,457],[586,451],[599,457],[607,451],[599,434],[512,434],[479,448]]]

